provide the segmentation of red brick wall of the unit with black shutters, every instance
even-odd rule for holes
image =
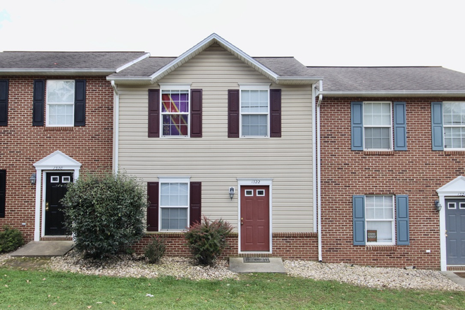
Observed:
[[[33,163],[59,150],[82,163],[81,171],[111,168],[113,89],[105,77],[53,77],[87,80],[87,101],[84,127],[52,130],[32,126],[33,80],[47,77],[4,78],[10,84],[8,126],[0,126],[0,169],[6,169],[6,216],[0,218],[0,226],[19,228],[26,240],[32,240],[35,186],[30,185],[29,178],[35,172]]]

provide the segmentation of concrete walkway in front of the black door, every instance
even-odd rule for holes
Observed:
[[[11,257],[63,256],[73,249],[73,241],[31,241],[10,254]]]

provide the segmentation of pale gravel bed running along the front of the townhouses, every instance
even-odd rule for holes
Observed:
[[[9,259],[8,254],[0,255],[0,263]],[[191,280],[240,280],[237,273],[228,269],[228,261],[218,261],[216,266],[196,266],[192,259],[163,257],[160,263],[151,264],[142,256],[122,255],[109,261],[89,261],[71,251],[66,256],[50,259],[46,265],[53,271],[68,271],[87,275],[109,275],[114,277],[156,278],[170,275]],[[465,287],[454,283],[440,271],[402,268],[375,268],[355,266],[347,263],[318,263],[316,261],[284,261],[285,271],[290,276],[314,280],[335,280],[357,286],[378,289],[414,290],[457,290]]]

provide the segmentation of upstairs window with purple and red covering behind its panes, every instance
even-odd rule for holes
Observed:
[[[163,137],[189,137],[189,89],[161,90]]]

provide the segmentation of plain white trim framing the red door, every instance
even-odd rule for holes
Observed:
[[[242,186],[268,186],[269,187],[269,224],[270,224],[270,250],[266,252],[242,252],[241,249],[241,233],[240,233],[240,193]],[[273,253],[273,178],[237,178],[237,187],[238,187],[238,194],[237,194],[237,249],[239,254],[247,253],[247,254],[271,254]]]

